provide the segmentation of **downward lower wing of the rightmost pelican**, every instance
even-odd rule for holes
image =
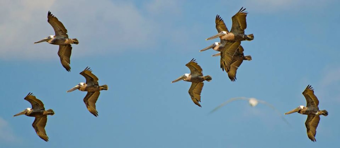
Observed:
[[[308,115],[305,125],[307,128],[307,136],[308,138],[316,142],[315,135],[317,134],[317,127],[320,121],[320,116],[318,115]]]

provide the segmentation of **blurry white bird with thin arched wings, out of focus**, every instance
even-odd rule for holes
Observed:
[[[276,111],[276,112],[278,113],[278,115],[283,119],[283,121],[286,122],[288,125],[290,125],[290,124],[288,123],[288,121],[285,119],[285,117],[283,117],[283,116],[281,115],[281,113],[280,113],[277,109],[274,108],[273,105],[267,103],[266,101],[258,100],[258,99],[256,99],[256,98],[246,98],[246,97],[236,97],[236,98],[231,98],[231,99],[225,101],[224,103],[222,103],[221,105],[219,105],[218,107],[216,107],[214,110],[210,111],[210,113],[215,112],[215,111],[218,110],[219,108],[221,108],[221,107],[225,106],[226,104],[228,104],[228,103],[230,103],[230,102],[232,102],[232,101],[235,101],[235,100],[248,100],[248,103],[249,103],[249,105],[250,105],[251,107],[255,107],[258,103],[265,104],[265,105],[269,106],[270,108],[272,108],[274,111]]]

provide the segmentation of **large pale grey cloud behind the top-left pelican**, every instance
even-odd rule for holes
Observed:
[[[47,22],[48,11],[63,22],[70,38],[79,40],[73,45],[72,57],[147,49],[162,37],[162,21],[150,14],[176,12],[176,4],[160,0],[142,7],[110,0],[1,1],[0,58],[58,59],[57,45],[33,44],[54,34]]]

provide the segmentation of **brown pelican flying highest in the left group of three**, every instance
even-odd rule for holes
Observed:
[[[69,72],[71,71],[70,67],[70,57],[71,57],[71,44],[78,44],[78,39],[70,39],[67,35],[67,30],[62,22],[60,22],[54,15],[49,11],[47,14],[47,21],[51,24],[54,29],[55,35],[50,35],[40,41],[40,42],[48,42],[50,44],[59,45],[58,55],[60,57],[60,61],[63,67]]]

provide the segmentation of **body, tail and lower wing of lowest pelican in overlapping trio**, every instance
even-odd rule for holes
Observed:
[[[252,60],[252,57],[250,55],[244,56],[243,51],[244,51],[244,49],[240,45],[238,47],[238,49],[236,50],[234,56],[233,56],[233,60],[232,60],[231,65],[230,65],[230,69],[228,71],[228,77],[231,81],[236,80],[236,71],[240,67],[240,65],[242,64],[243,60],[249,60],[249,61]]]

